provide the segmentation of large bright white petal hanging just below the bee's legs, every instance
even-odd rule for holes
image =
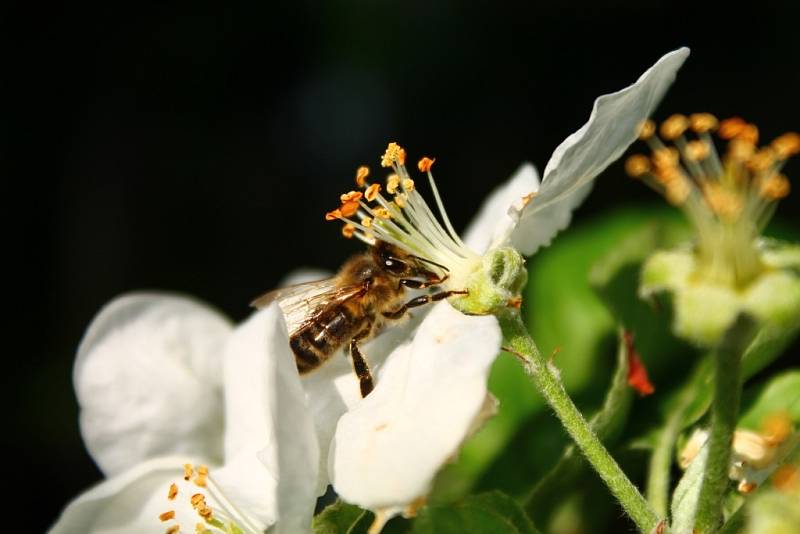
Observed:
[[[372,394],[340,419],[330,465],[339,495],[390,513],[425,495],[485,406],[500,339],[494,317],[437,304]]]

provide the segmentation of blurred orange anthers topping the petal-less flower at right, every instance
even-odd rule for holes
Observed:
[[[694,139],[687,138],[688,131]],[[722,158],[712,132],[728,142]],[[780,171],[790,156],[800,152],[797,133],[759,147],[755,125],[738,117],[718,121],[709,113],[672,115],[658,133],[660,138],[652,121],[642,124],[640,139],[650,145],[652,156],[631,156],[625,170],[690,215],[703,217],[710,210],[724,222],[746,218],[758,224],[769,218],[774,201],[789,194],[789,181]]]

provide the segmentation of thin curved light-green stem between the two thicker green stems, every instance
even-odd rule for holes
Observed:
[[[692,371],[691,378],[680,392],[675,407],[670,410],[664,429],[658,435],[653,455],[650,457],[647,474],[647,501],[661,517],[666,517],[669,509],[669,475],[675,442],[686,422],[687,412],[697,399],[709,372],[710,369],[705,360],[701,361]]]

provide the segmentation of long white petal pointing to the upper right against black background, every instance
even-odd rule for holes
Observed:
[[[591,188],[591,181],[619,158],[638,136],[638,127],[655,110],[689,56],[670,52],[633,85],[594,102],[589,121],[553,152],[539,194],[523,210],[512,244],[530,255],[564,229]]]

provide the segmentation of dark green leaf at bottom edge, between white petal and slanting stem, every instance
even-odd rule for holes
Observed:
[[[522,508],[499,491],[481,493],[449,505],[422,508],[413,534],[534,534],[536,529]]]

